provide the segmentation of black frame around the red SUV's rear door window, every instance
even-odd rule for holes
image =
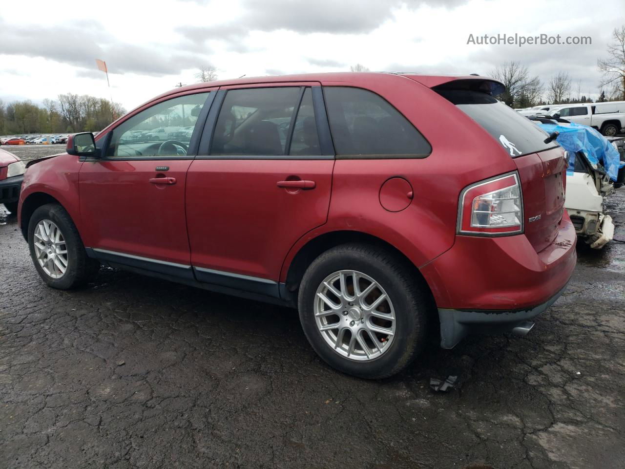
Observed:
[[[292,86],[292,85],[291,85]],[[268,84],[268,86],[259,86],[258,88],[279,88],[275,84]],[[301,86],[304,91],[306,86]],[[221,112],[221,107],[226,99],[226,93],[230,89],[228,88],[219,90],[215,93],[214,101],[212,101],[211,109],[207,115],[206,123],[204,123],[204,130],[199,141],[197,149],[197,155],[195,159],[334,159],[334,146],[332,145],[332,139],[330,138],[330,126],[327,122],[326,106],[323,99],[322,87],[320,85],[311,86],[312,91],[312,103],[315,113],[315,123],[317,124],[317,136],[319,137],[319,145],[321,147],[321,156],[294,156],[289,154],[279,154],[270,156],[257,156],[257,155],[232,155],[232,154],[209,154],[211,149],[212,139],[214,136],[215,128],[217,126],[217,118]],[[300,97],[300,103],[301,99]],[[298,109],[299,112],[299,109]],[[290,144],[290,140],[289,140]]]

